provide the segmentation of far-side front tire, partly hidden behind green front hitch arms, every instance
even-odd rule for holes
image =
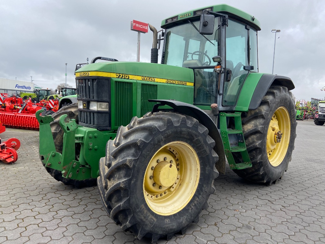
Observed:
[[[51,111],[53,112],[53,111]],[[56,148],[56,151],[58,153],[62,153],[62,147],[63,147],[63,130],[61,126],[59,125],[59,118],[61,115],[68,115],[67,119],[75,119],[76,123],[78,124],[78,105],[77,103],[69,104],[67,106],[64,106],[58,110],[58,112],[52,114],[52,117],[54,118],[54,121],[50,123],[51,131],[53,135],[54,145]],[[43,164],[45,167],[45,164]],[[87,180],[73,180],[73,179],[67,179],[62,176],[62,172],[56,169],[51,169],[48,167],[45,167],[47,172],[57,181],[62,182],[65,185],[73,185],[77,188],[83,188],[83,187],[89,187],[94,186],[97,184],[96,179],[87,179]]]

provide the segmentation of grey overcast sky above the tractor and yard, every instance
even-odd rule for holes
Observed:
[[[1,0],[0,77],[31,81],[44,88],[65,82],[75,86],[74,69],[97,56],[136,61],[137,33],[130,21],[150,23],[219,1]],[[228,0],[261,22],[258,32],[259,71],[288,76],[297,99],[324,98],[325,2]],[[278,38],[279,37],[279,38]],[[150,61],[152,33],[141,34],[140,61]],[[159,56],[160,62],[161,55]]]

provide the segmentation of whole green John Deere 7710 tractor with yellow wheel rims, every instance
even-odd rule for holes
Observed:
[[[48,173],[76,187],[97,183],[110,218],[155,243],[198,222],[225,156],[245,180],[281,179],[296,111],[292,80],[258,73],[254,16],[220,4],[163,20],[161,64],[162,38],[149,28],[151,63],[85,65],[77,104],[36,116]]]

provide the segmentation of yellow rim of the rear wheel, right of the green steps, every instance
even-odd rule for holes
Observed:
[[[268,161],[274,167],[279,166],[289,147],[290,116],[285,107],[279,107],[273,114],[267,130],[266,152]]]

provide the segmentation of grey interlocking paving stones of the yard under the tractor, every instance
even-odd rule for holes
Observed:
[[[16,163],[0,162],[0,243],[149,243],[124,233],[107,216],[97,187],[54,180],[38,158],[38,132],[18,137]],[[325,243],[325,126],[298,121],[289,169],[277,184],[247,183],[229,167],[214,182],[208,210],[186,235],[158,243]]]

